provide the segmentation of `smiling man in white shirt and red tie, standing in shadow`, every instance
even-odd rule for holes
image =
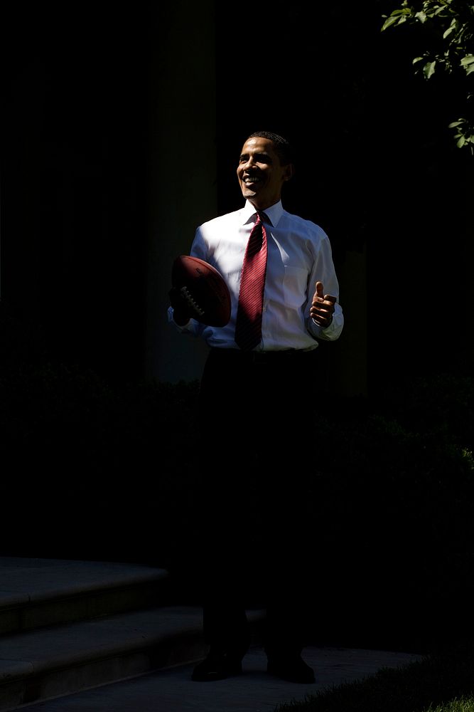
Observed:
[[[229,323],[215,328],[194,320],[179,293],[170,292],[169,320],[210,347],[199,414],[207,444],[200,453],[204,528],[195,551],[205,572],[203,620],[210,650],[195,666],[197,681],[242,672],[250,642],[247,585],[265,599],[269,673],[314,681],[301,651],[312,586],[311,512],[303,510],[317,457],[316,352],[319,340],[338,339],[344,318],[328,236],[281,203],[293,169],[283,137],[253,133],[237,166],[244,206],[195,233],[190,254],[212,264],[227,282]],[[257,288],[258,276],[264,283]]]

